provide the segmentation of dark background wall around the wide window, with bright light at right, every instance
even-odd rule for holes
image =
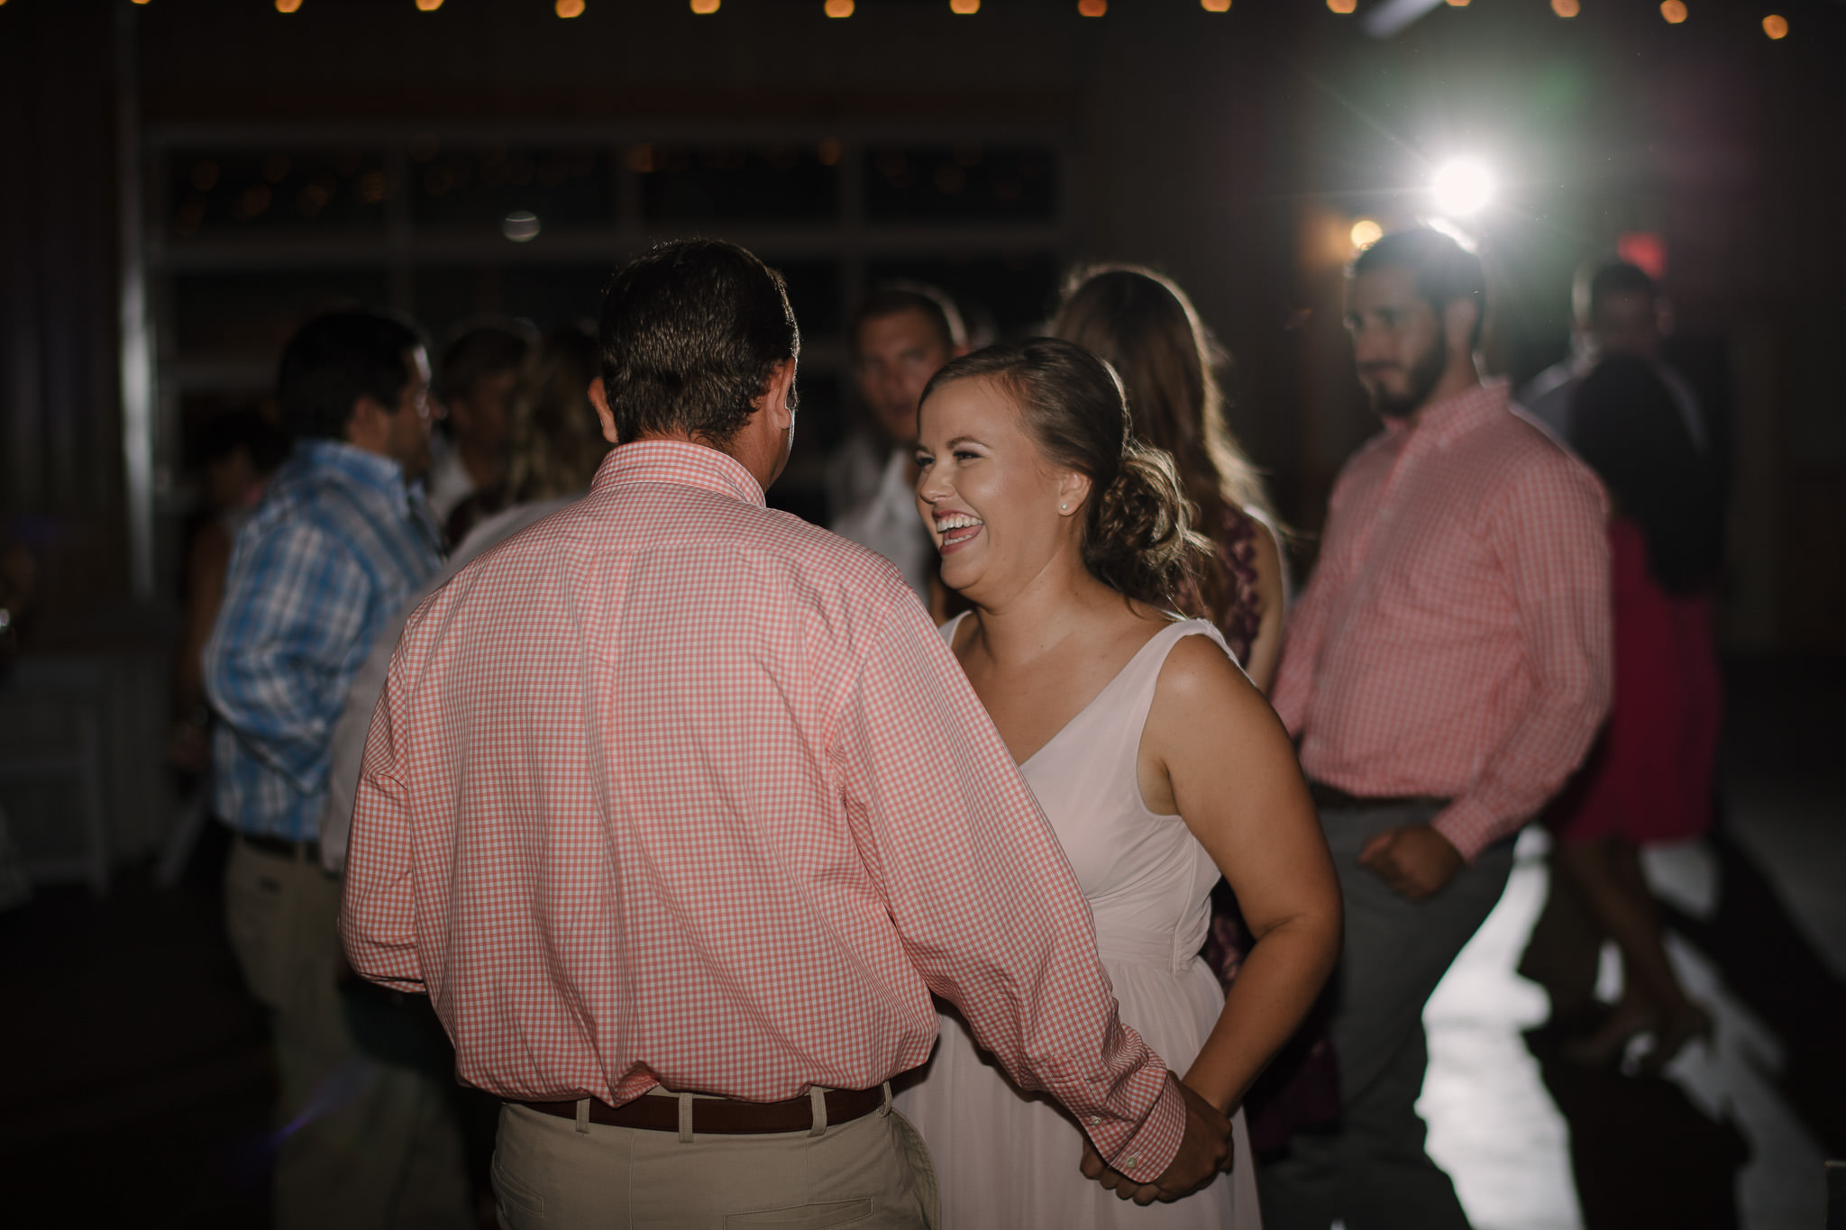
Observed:
[[[1780,7],[1780,6],[1778,6]],[[6,533],[33,538],[68,631],[127,597],[114,332],[116,90],[175,125],[829,124],[1074,133],[1061,260],[1172,273],[1235,356],[1235,426],[1313,529],[1370,432],[1338,325],[1351,219],[1408,221],[1436,159],[1501,177],[1482,221],[1490,361],[1564,352],[1567,284],[1621,232],[1663,236],[1680,328],[1730,363],[1737,509],[1728,636],[1846,649],[1846,308],[1839,157],[1846,7],[1540,0],[1438,7],[1373,41],[1305,0],[9,0],[0,6],[0,465]],[[1362,17],[1362,13],[1359,15]],[[129,53],[118,57],[126,30]],[[124,72],[127,68],[133,76]],[[140,136],[135,136],[140,140]],[[150,195],[150,219],[166,207]],[[157,227],[155,227],[157,229]],[[722,227],[707,227],[720,229]],[[541,240],[543,243],[543,240]],[[611,253],[611,260],[618,253]],[[587,304],[585,310],[593,310]],[[161,444],[183,487],[181,441]],[[1307,553],[1311,553],[1307,538]]]

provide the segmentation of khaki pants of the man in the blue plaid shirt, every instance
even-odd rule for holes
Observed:
[[[338,918],[340,881],[318,863],[233,845],[225,924],[270,1009],[281,1082],[275,1224],[473,1226],[452,1077],[358,1046],[336,981]]]

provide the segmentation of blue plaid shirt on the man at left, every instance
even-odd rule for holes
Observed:
[[[251,835],[314,841],[332,728],[353,673],[441,562],[421,489],[397,461],[312,439],[295,444],[238,531],[205,645],[212,804]]]

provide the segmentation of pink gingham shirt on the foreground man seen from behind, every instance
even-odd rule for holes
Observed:
[[[936,992],[1135,1177],[1183,1134],[903,577],[698,444],[613,450],[412,616],[340,926],[508,1099],[871,1088],[929,1057]]]

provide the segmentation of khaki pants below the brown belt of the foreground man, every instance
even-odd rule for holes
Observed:
[[[886,1105],[820,1134],[694,1136],[557,1119],[508,1103],[493,1154],[506,1230],[925,1230],[936,1167]]]

